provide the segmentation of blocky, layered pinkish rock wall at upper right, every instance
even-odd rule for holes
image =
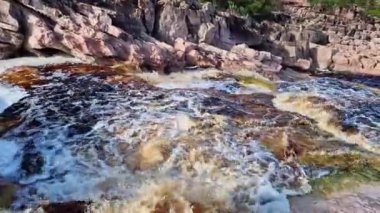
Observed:
[[[285,11],[291,21],[265,24],[271,43],[267,49],[282,56],[285,65],[301,70],[380,75],[379,20],[365,17],[357,9],[329,13],[320,8],[291,6]]]

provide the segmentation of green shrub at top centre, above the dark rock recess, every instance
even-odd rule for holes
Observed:
[[[203,0],[203,2],[212,2],[219,9],[232,10],[242,15],[268,13],[279,4],[277,0]]]

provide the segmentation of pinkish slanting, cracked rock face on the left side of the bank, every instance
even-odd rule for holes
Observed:
[[[229,52],[238,44],[258,45],[262,38],[245,27],[246,19],[217,14],[210,3],[0,0],[0,6],[2,59],[63,52],[83,61],[118,61],[159,72],[185,65],[279,69],[276,62]],[[175,48],[178,39],[192,48],[185,55]]]

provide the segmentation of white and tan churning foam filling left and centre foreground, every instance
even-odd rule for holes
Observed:
[[[167,191],[167,185],[180,183],[183,190],[169,187],[177,200],[205,206],[212,206],[217,200],[222,209],[231,209],[230,212],[253,211],[257,207],[258,184],[266,181],[270,185],[273,180],[271,190],[276,190],[290,185],[282,174],[289,173],[287,176],[292,177],[296,173],[288,172],[258,142],[246,141],[238,134],[255,127],[240,126],[228,116],[213,113],[213,108],[218,106],[205,104],[213,99],[203,91],[141,90],[138,87],[124,91],[114,87],[114,91],[108,92],[96,77],[67,80],[65,75],[55,76],[65,81],[36,87],[33,96],[23,100],[30,103],[27,120],[7,134],[8,140],[22,145],[28,142],[23,139],[25,134],[30,136],[35,147],[26,146],[23,151],[38,152],[44,159],[40,173],[21,175],[17,180],[23,188],[18,193],[16,207],[38,206],[44,199],[95,203],[120,199],[128,209],[135,203],[140,204],[141,199],[144,202],[151,201],[151,197],[163,199],[166,195],[161,192]],[[81,92],[88,89],[93,93],[83,96]],[[71,98],[71,105],[66,105],[67,97]],[[82,109],[79,116],[72,114],[75,105],[86,106],[86,109]],[[48,110],[54,110],[58,120]],[[69,137],[68,126],[84,122],[80,119],[89,115],[101,118],[89,124],[91,133]],[[37,126],[31,128],[28,122],[31,119],[43,125],[37,122]],[[156,146],[148,146],[151,152],[145,154],[141,150],[149,143]],[[146,155],[148,158],[167,155],[167,159],[149,168]],[[273,164],[270,167],[273,169],[269,170],[267,164]],[[13,172],[22,173],[21,168]],[[157,187],[146,189],[147,185]],[[194,186],[207,190],[198,193]],[[288,209],[282,191],[272,193],[275,198],[264,205],[274,203]],[[140,198],[141,194],[148,198]],[[209,194],[212,196],[206,196]],[[152,203],[154,207],[155,202]],[[263,208],[276,208],[265,206]],[[141,212],[125,209],[119,212]]]

